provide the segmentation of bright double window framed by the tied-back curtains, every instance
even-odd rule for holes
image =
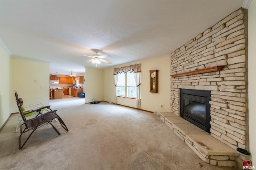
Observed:
[[[137,87],[133,72],[118,73],[118,81],[116,85],[116,96],[137,98]]]

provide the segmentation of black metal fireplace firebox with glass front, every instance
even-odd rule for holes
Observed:
[[[180,116],[210,133],[211,91],[180,89]]]

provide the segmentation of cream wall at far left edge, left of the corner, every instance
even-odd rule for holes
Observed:
[[[10,56],[0,45],[0,127],[10,115]]]

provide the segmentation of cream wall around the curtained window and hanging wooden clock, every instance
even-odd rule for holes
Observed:
[[[170,111],[170,57],[163,57],[141,63],[141,108],[147,111]],[[104,101],[115,102],[114,92],[114,68],[129,66],[138,63],[126,63],[111,68],[104,69]],[[149,92],[149,70],[159,70],[158,72],[158,93]],[[136,100],[129,98],[119,98],[117,104],[135,107]],[[160,105],[163,107],[160,108]]]

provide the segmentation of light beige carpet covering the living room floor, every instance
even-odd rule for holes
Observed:
[[[20,96],[22,97],[22,96]],[[159,115],[84,98],[50,100],[66,123],[45,125],[18,149],[18,114],[0,132],[1,170],[231,170],[202,161]],[[25,105],[25,103],[24,103]],[[24,138],[23,138],[24,139]]]

